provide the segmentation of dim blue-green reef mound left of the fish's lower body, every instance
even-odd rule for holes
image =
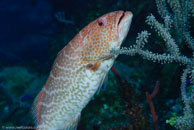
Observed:
[[[0,125],[29,125],[32,99],[46,78],[22,66],[0,70]]]

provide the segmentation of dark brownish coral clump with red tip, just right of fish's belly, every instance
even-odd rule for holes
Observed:
[[[149,130],[149,122],[145,116],[145,111],[141,104],[138,102],[138,94],[134,90],[133,86],[130,83],[123,80],[117,70],[112,67],[112,72],[116,76],[119,82],[119,94],[124,100],[124,105],[126,106],[126,115],[131,119],[132,123],[128,124],[127,126],[122,126],[116,128],[115,130],[122,129],[122,130]],[[113,129],[114,130],[114,129]]]

